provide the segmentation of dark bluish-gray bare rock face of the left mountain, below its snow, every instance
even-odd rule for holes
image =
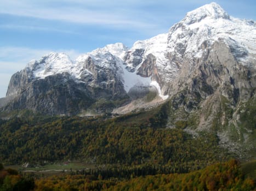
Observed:
[[[13,81],[16,76],[19,75],[13,76]],[[92,92],[84,83],[76,83],[68,74],[57,74],[27,83],[5,110],[30,109],[49,115],[74,115],[93,101]]]

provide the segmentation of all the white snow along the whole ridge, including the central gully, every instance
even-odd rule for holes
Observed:
[[[105,68],[118,73],[126,92],[134,85],[151,85],[158,89],[163,99],[166,99],[162,95],[162,84],[173,81],[179,75],[184,58],[191,61],[194,58],[200,59],[203,51],[206,51],[203,46],[209,47],[219,40],[230,47],[237,61],[249,67],[256,67],[253,64],[256,59],[255,22],[235,19],[217,3],[211,3],[187,13],[183,20],[169,29],[168,33],[136,41],[131,49],[122,43],[109,44],[85,53],[75,61],[71,61],[65,53],[52,52],[38,62],[31,61],[27,68],[33,71],[36,78],[43,79],[49,75],[69,73],[79,80],[82,76],[92,74],[89,68],[84,67],[84,62],[90,58],[99,70]],[[145,67],[149,55],[155,58],[155,63],[151,63],[155,67],[152,75],[157,71],[157,78],[160,76],[161,79],[152,79],[152,75],[138,75],[143,64]]]

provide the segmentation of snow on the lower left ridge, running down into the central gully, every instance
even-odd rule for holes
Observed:
[[[90,58],[93,64],[99,68],[107,68],[117,71],[120,75],[124,89],[129,92],[129,89],[135,85],[150,86],[150,77],[141,77],[136,73],[130,73],[126,70],[122,58],[128,48],[122,43],[109,44],[101,49],[93,50],[92,52],[84,53],[71,61],[65,53],[49,53],[43,56],[39,61],[31,61],[27,64],[27,68],[33,72],[36,79],[44,79],[47,76],[61,73],[69,73],[77,80],[80,80],[85,73],[92,74],[87,68],[84,68],[84,62]]]

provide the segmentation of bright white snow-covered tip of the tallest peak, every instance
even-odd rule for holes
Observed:
[[[220,7],[220,5],[218,5],[217,3],[211,3],[203,5],[202,7],[187,13],[185,18],[183,19],[183,22],[189,25],[195,22],[200,22],[206,17],[211,17],[212,19],[230,18],[229,14],[227,14],[226,11]]]

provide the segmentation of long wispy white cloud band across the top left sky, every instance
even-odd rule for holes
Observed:
[[[54,2],[60,5],[54,7]],[[96,5],[95,2],[88,3],[88,1],[85,3],[76,1],[78,4],[73,1],[65,2],[68,4],[60,1],[42,4],[41,1],[10,0],[1,4],[0,13],[82,24],[111,25],[112,27],[155,27],[150,22],[141,20],[143,15],[140,18],[132,17],[133,14],[130,13],[132,10],[127,13],[124,8],[111,7],[111,3],[100,2]]]

